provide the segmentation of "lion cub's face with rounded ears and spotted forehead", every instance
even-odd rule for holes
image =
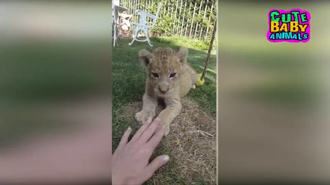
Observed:
[[[187,55],[188,49],[185,47],[180,47],[177,52],[170,48],[157,48],[153,53],[145,49],[139,52],[141,65],[148,71],[148,82],[156,93],[171,92]]]

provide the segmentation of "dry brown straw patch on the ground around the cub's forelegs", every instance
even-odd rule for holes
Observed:
[[[159,170],[148,184],[215,184],[215,118],[188,98],[182,99],[181,103],[181,114],[170,125],[170,134],[159,146],[159,154],[166,151],[170,156],[170,163]],[[134,115],[141,108],[141,101],[130,103],[122,108],[120,119],[126,123],[138,124]],[[156,114],[160,111],[161,108],[158,107]]]

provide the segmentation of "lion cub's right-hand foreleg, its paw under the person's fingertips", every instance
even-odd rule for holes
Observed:
[[[170,132],[170,123],[181,112],[182,106],[179,99],[165,99],[165,103],[166,108],[159,113],[157,119],[165,126],[165,136],[167,136],[168,132]]]

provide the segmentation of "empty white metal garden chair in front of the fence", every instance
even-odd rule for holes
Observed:
[[[159,11],[160,8],[162,8],[162,3],[159,3],[158,8],[157,8],[157,12],[155,15],[153,14],[149,14],[148,12],[144,12],[143,10],[135,10],[135,12],[137,12],[137,14],[140,14],[140,23],[132,23],[131,25],[135,25],[135,34],[133,36],[133,40],[131,43],[129,43],[129,45],[132,45],[133,42],[135,40],[139,41],[139,42],[148,42],[148,44],[153,47],[153,45],[151,45],[151,41],[149,39],[148,36],[148,31],[149,29],[151,29],[153,26],[155,26],[158,15],[159,15]],[[151,25],[148,25],[148,21],[147,18],[151,18],[153,20],[153,23]],[[146,38],[138,38],[138,34],[139,32],[143,31],[144,34],[146,34]]]

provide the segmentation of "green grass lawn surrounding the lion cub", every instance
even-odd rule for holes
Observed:
[[[201,73],[205,65],[208,49],[207,42],[191,40],[188,38],[166,37],[152,38],[153,47],[149,47],[146,42],[134,42],[129,46],[131,39],[121,39],[112,53],[112,95],[113,95],[113,151],[118,146],[119,140],[127,127],[131,126],[137,130],[140,125],[128,123],[120,116],[120,110],[127,103],[142,101],[144,94],[146,71],[140,66],[137,53],[140,49],[152,51],[157,47],[171,47],[177,49],[180,46],[188,48],[188,62],[194,69]],[[215,48],[215,47],[214,47]],[[203,86],[190,90],[188,97],[197,101],[200,108],[206,110],[211,115],[216,115],[216,55],[214,50],[210,57],[209,71],[206,73],[206,82]],[[156,153],[169,153],[170,149],[161,146]],[[184,180],[175,175],[175,162],[169,162],[162,175],[166,176],[166,184],[185,184]],[[198,177],[197,177],[198,179]],[[201,180],[199,180],[201,181]],[[147,184],[153,184],[152,180]]]

